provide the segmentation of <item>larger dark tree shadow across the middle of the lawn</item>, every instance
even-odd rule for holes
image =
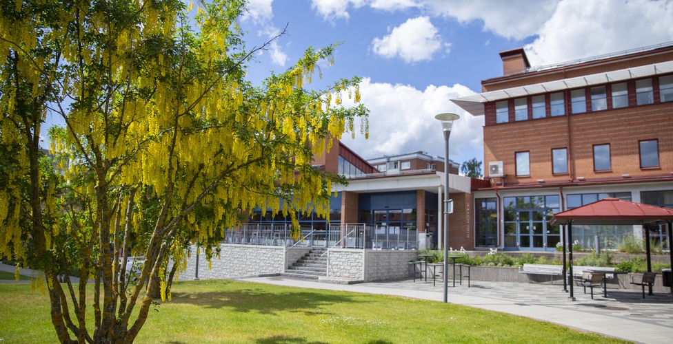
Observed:
[[[172,292],[170,303],[185,303],[203,308],[228,308],[234,312],[259,312],[276,314],[277,312],[301,312],[307,315],[327,314],[323,306],[335,303],[357,303],[361,298],[348,294],[333,292],[310,291],[303,289],[277,288],[270,292],[269,288],[242,285],[242,288],[222,288],[222,291],[207,290],[203,292]],[[217,287],[216,287],[217,288]]]

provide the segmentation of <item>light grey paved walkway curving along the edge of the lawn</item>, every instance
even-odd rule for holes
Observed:
[[[344,290],[370,294],[398,295],[443,301],[441,281],[386,281],[359,284],[333,284],[290,277],[254,277],[241,279],[259,283],[300,288]],[[563,286],[538,283],[472,281],[448,290],[448,301],[485,310],[549,321],[581,331],[596,332],[641,343],[673,343],[673,297],[670,293],[646,295],[640,291],[594,290],[594,300],[583,288],[574,289],[570,301]]]

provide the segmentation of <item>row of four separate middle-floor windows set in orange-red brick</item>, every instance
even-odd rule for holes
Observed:
[[[638,142],[641,169],[659,167],[659,140],[641,140]],[[612,170],[610,144],[594,144],[594,171]],[[568,173],[567,148],[552,149],[552,173]],[[530,151],[514,153],[516,176],[530,175]]]

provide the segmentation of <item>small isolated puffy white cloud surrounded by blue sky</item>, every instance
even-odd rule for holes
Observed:
[[[388,36],[372,41],[374,53],[385,58],[399,56],[406,63],[431,60],[442,47],[448,52],[449,46],[442,43],[437,28],[428,17],[408,19],[392,29]]]

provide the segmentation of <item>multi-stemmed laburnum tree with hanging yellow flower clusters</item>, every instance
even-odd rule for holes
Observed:
[[[0,257],[43,272],[62,343],[132,342],[152,295],[165,296],[150,280],[165,281],[190,243],[213,255],[245,209],[327,217],[343,180],[312,157],[354,134],[355,120],[366,131],[359,78],[305,89],[332,63],[326,47],[253,87],[245,65],[268,42],[245,47],[243,10],[243,0],[0,0]],[[48,157],[47,116],[65,122],[50,130]],[[144,257],[133,281],[130,255]]]

